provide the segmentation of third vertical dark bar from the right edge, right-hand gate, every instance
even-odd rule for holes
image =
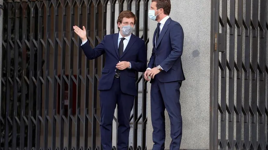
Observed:
[[[246,0],[246,9],[245,9],[245,60],[244,60],[244,110],[246,115],[244,115],[244,142],[247,147],[250,146],[249,143],[249,103],[250,103],[250,20],[251,20],[251,1]]]

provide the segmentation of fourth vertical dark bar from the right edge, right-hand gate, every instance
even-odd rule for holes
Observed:
[[[242,57],[243,57],[243,0],[237,2],[237,58],[236,64],[239,71],[236,72],[236,141],[242,147]]]

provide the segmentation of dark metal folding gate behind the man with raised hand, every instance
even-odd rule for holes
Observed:
[[[99,150],[97,85],[105,55],[87,60],[73,26],[94,47],[117,31],[119,12],[138,17],[135,35],[148,39],[149,0],[4,0],[0,149]],[[146,149],[146,81],[130,119],[130,150]],[[113,145],[116,146],[116,117]],[[113,147],[116,149],[116,147]]]

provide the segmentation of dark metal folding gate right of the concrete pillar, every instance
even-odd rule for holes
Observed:
[[[268,149],[268,1],[211,1],[210,149]]]

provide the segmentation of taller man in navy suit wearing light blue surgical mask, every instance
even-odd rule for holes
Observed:
[[[181,63],[183,53],[183,29],[169,17],[170,0],[152,0],[148,12],[158,22],[152,39],[152,55],[144,78],[151,77],[151,116],[153,127],[152,150],[165,148],[165,109],[171,125],[170,150],[179,150],[182,137],[180,86],[185,80]]]

